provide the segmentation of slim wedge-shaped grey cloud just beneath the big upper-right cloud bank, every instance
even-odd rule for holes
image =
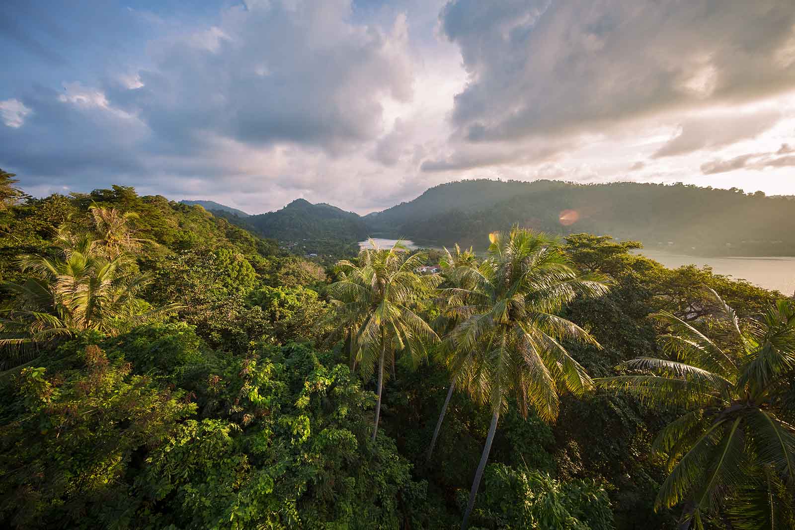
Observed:
[[[702,114],[682,123],[677,136],[666,142],[652,157],[673,157],[700,149],[716,149],[754,138],[769,130],[780,119],[778,110]]]

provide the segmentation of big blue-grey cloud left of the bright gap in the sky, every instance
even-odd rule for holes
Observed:
[[[179,141],[212,130],[251,145],[344,152],[380,132],[382,100],[408,100],[405,17],[388,33],[346,20],[349,2],[249,2],[210,29],[161,43],[155,68],[118,95]]]

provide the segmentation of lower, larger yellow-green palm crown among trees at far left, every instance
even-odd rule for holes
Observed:
[[[17,352],[6,358],[5,368],[24,360],[29,346],[85,330],[113,333],[120,319],[135,315],[135,295],[149,283],[148,275],[130,270],[126,254],[107,257],[103,242],[91,234],[61,229],[55,243],[55,257],[19,257],[20,269],[31,276],[24,283],[2,286],[13,296],[0,308],[0,347]]]

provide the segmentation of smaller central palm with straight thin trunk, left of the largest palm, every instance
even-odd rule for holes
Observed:
[[[373,439],[381,415],[385,362],[393,362],[401,351],[418,361],[425,354],[425,345],[439,340],[428,323],[414,312],[416,304],[429,296],[441,280],[435,274],[414,272],[425,259],[424,253],[409,256],[401,242],[381,249],[370,239],[370,248],[359,252],[356,263],[337,263],[346,276],[328,286],[336,305],[335,319],[342,326],[355,326],[351,337],[351,353],[358,356],[355,360],[366,377],[378,370]]]

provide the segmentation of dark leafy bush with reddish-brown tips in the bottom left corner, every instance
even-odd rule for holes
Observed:
[[[97,346],[80,357],[82,369],[49,377],[42,367],[23,369],[6,404],[20,411],[0,430],[0,516],[9,524],[92,528],[87,514],[129,517],[124,479],[138,452],[195,408]]]

